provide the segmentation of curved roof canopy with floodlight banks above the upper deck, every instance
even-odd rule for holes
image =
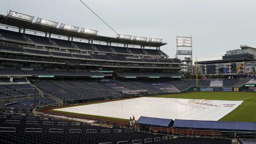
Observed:
[[[120,43],[120,44],[133,44],[133,45],[139,45],[142,47],[161,47],[164,46],[167,43],[163,42],[152,42],[152,41],[139,41],[136,39],[123,39],[123,38],[115,38],[115,37],[107,37],[107,36],[99,36],[97,34],[90,34],[90,33],[84,33],[84,32],[78,32],[79,27],[75,27],[76,29],[66,29],[63,27],[64,24],[61,24],[61,26],[58,28],[57,24],[58,22],[52,22],[55,23],[55,25],[45,25],[42,22],[39,22],[39,19],[37,18],[36,22],[32,22],[33,16],[27,16],[30,19],[21,19],[20,17],[14,17],[14,15],[11,15],[11,12],[5,16],[0,15],[0,23],[7,26],[13,26],[17,28],[23,28],[27,30],[33,30],[38,32],[44,32],[44,33],[51,33],[51,34],[57,34],[61,36],[66,37],[73,37],[73,38],[81,38],[81,39],[89,39],[93,41],[101,41],[101,42],[111,42],[111,43]],[[15,14],[20,14],[13,12]],[[21,14],[23,15],[23,14]],[[16,15],[15,15],[16,16]],[[24,18],[24,17],[22,17]],[[42,19],[41,19],[42,20]],[[45,20],[47,21],[47,20]],[[74,26],[71,26],[74,27]]]

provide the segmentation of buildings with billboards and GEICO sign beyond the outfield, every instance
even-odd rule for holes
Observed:
[[[254,78],[256,69],[256,48],[240,46],[240,49],[229,50],[222,60],[197,62],[200,75],[222,74],[233,78]]]

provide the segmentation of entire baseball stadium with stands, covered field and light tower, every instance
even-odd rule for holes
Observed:
[[[0,143],[256,143],[256,48],[198,62],[191,36],[171,58],[31,15],[0,15]]]

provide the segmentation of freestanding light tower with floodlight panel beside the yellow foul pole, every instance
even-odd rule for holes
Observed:
[[[182,55],[182,69],[181,73],[193,73],[193,59],[192,59],[192,37],[178,37],[177,36],[177,52],[176,58]]]

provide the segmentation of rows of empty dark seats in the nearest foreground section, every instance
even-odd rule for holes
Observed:
[[[99,144],[99,143],[112,143],[112,144],[132,144],[132,143],[150,143],[150,144],[231,144],[230,139],[222,138],[190,138],[190,137],[177,137],[169,139],[164,134],[145,133],[142,131],[130,130],[124,128],[107,128],[101,126],[94,126],[88,124],[72,125],[70,121],[60,119],[41,119],[41,117],[31,115],[3,115],[0,118],[0,143],[2,144]],[[6,117],[5,117],[6,116]],[[33,118],[33,120],[30,120]],[[18,123],[6,123],[6,120],[15,120]],[[28,124],[33,121],[37,124]],[[50,124],[46,124],[50,123]],[[60,124],[61,123],[61,124]],[[10,128],[10,129],[8,129]],[[93,130],[93,133],[90,131]],[[108,132],[102,132],[107,130]],[[13,132],[5,132],[13,131]],[[147,139],[147,141],[145,140]]]

